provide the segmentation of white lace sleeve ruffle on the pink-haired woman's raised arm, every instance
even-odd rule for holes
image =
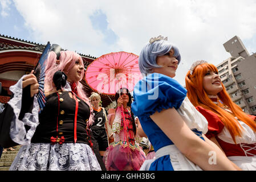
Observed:
[[[10,126],[10,138],[21,145],[30,144],[31,138],[35,133],[35,129],[39,124],[38,110],[39,105],[36,97],[34,97],[34,105],[32,113],[26,113],[24,118],[19,120],[19,113],[21,113],[22,102],[22,80],[23,77],[17,82],[17,84],[10,86],[10,91],[13,92],[14,97],[8,102],[13,107],[14,116]],[[26,131],[25,125],[30,126],[30,129]]]

